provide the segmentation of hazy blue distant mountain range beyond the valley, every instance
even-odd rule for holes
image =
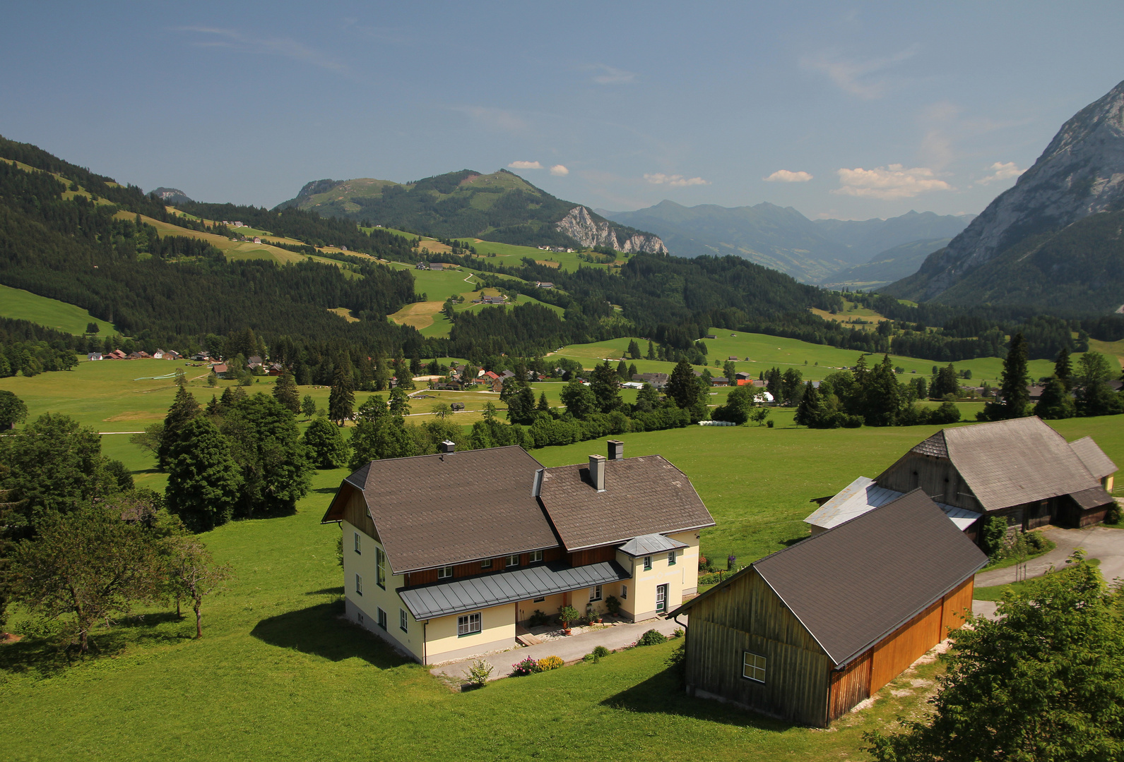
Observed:
[[[805,283],[847,284],[847,278],[841,279],[844,270],[867,266],[860,278],[863,287],[916,272],[923,258],[916,245],[936,240],[927,255],[972,220],[970,214],[915,211],[888,220],[809,220],[791,206],[771,203],[727,208],[661,201],[634,212],[598,211],[616,222],[651,230],[673,255],[733,254]],[[897,250],[903,245],[914,248]]]

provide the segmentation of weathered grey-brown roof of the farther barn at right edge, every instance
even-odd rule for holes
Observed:
[[[950,459],[988,511],[1070,495],[1099,480],[1079,457],[1093,457],[1091,448],[1071,447],[1039,417],[943,429],[910,451]]]

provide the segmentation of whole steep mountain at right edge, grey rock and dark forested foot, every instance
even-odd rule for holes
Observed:
[[[1124,82],[1069,119],[1015,183],[886,288],[946,304],[1088,312],[1124,302]]]

